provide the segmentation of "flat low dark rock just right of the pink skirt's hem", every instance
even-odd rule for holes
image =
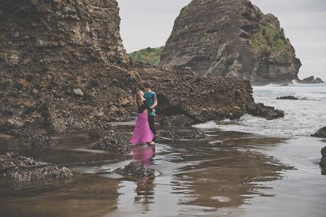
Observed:
[[[200,140],[206,138],[205,133],[202,133],[198,130],[158,130],[157,135],[173,140]]]

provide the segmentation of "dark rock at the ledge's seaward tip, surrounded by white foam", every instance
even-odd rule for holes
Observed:
[[[246,109],[252,116],[263,117],[267,120],[284,117],[284,111],[275,109],[272,106],[264,106],[263,104],[249,104],[246,106]]]

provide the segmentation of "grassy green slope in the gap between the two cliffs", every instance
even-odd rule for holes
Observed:
[[[135,52],[129,53],[129,57],[132,60],[146,62],[151,65],[157,66],[158,62],[160,62],[160,56],[164,47],[160,48],[145,48],[142,50],[137,50]]]

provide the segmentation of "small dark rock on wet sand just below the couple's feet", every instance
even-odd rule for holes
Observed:
[[[155,174],[153,169],[146,169],[144,165],[138,162],[131,162],[124,168],[114,170],[114,172],[128,177],[153,177]]]

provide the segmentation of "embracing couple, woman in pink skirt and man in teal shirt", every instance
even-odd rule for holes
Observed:
[[[156,94],[151,90],[151,84],[143,84],[143,91],[138,91],[136,102],[138,106],[138,115],[134,134],[130,139],[131,145],[154,145],[156,130],[154,119],[156,116],[155,108],[158,105]]]

